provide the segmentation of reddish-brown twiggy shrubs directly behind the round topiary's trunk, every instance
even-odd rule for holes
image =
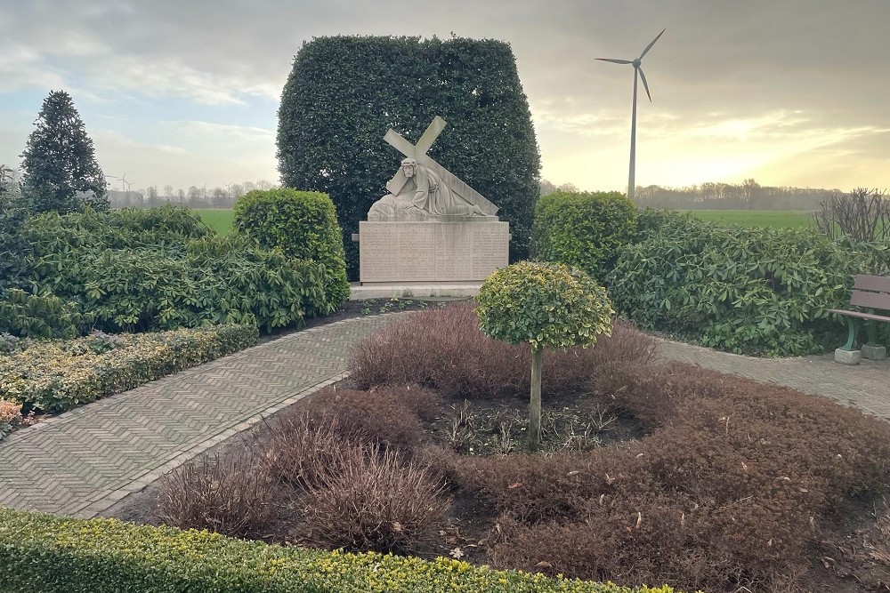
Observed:
[[[548,350],[544,356],[545,397],[585,389],[595,373],[645,365],[654,342],[644,333],[616,324],[612,337],[594,348]],[[443,397],[526,397],[531,353],[492,340],[479,331],[473,303],[458,303],[412,314],[360,343],[350,369],[359,389],[420,383]]]

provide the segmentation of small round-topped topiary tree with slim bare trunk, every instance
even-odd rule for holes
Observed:
[[[593,346],[611,333],[614,311],[587,273],[559,263],[520,261],[493,272],[476,298],[482,333],[531,346],[530,449],[541,440],[541,364],[545,348]]]

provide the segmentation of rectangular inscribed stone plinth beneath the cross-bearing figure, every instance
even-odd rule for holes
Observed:
[[[359,279],[362,285],[481,282],[507,265],[509,244],[509,224],[495,217],[360,222]]]

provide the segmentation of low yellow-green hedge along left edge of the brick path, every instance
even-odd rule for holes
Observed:
[[[0,399],[61,413],[254,346],[254,325],[33,341],[0,354]]]

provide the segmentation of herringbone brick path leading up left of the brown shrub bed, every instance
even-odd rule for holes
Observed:
[[[0,505],[94,517],[342,378],[352,346],[399,315],[292,333],[20,430],[0,444]]]

